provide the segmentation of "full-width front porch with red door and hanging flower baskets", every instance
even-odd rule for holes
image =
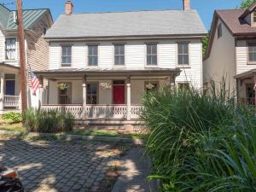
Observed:
[[[145,91],[174,86],[178,69],[53,70],[38,72],[40,87],[48,79],[48,96],[41,109],[72,113],[87,122],[136,123]]]

